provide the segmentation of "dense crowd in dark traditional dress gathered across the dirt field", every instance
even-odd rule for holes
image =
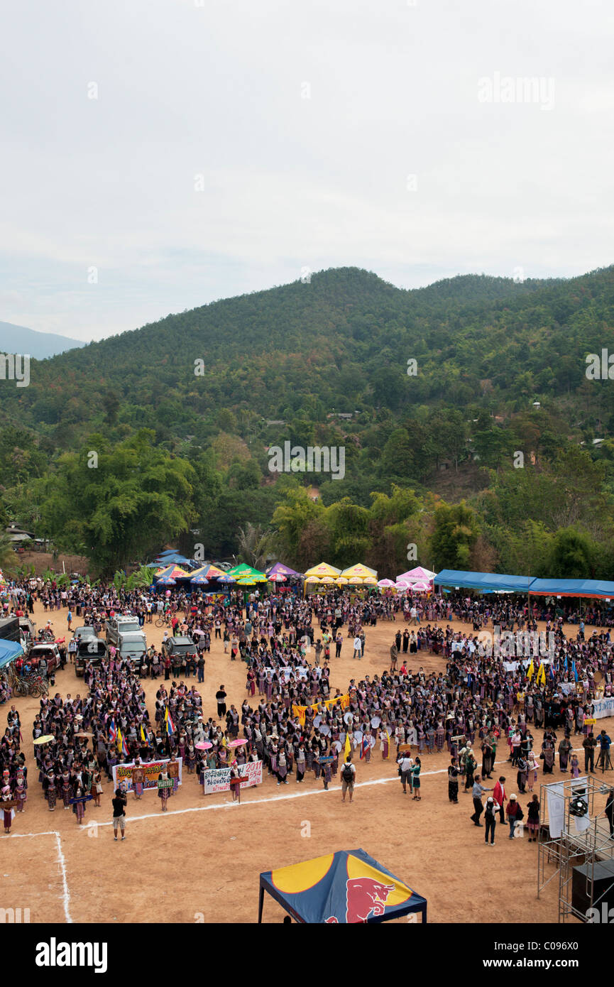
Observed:
[[[121,763],[168,760],[173,786],[160,790],[163,809],[177,790],[179,779],[172,766],[180,758],[188,775],[195,774],[202,786],[207,769],[230,767],[237,772],[248,760],[262,760],[278,786],[291,778],[303,783],[313,774],[328,789],[340,761],[343,771],[351,755],[368,763],[377,751],[384,761],[397,759],[403,792],[409,785],[418,800],[423,758],[446,749],[448,797],[455,803],[459,786],[474,799],[479,794],[481,801],[482,792],[488,791],[482,781],[492,777],[502,745],[516,769],[519,794],[531,795],[539,771],[552,774],[557,755],[561,771],[577,777],[581,766],[572,735],[582,738],[584,770],[594,770],[597,746],[603,770],[609,763],[610,739],[603,730],[595,734],[590,723],[597,684],[604,695],[614,693],[609,617],[597,609],[592,616],[601,620],[602,630],[588,640],[581,619],[576,634],[567,637],[563,617],[570,614],[557,613],[555,606],[548,609],[543,602],[529,614],[520,601],[491,604],[462,596],[356,599],[339,588],[306,598],[255,590],[244,604],[237,592],[211,603],[201,593],[182,589],[161,595],[117,591],[113,585],[60,589],[25,583],[11,588],[9,612],[32,612],[37,596],[47,612],[68,608],[71,618],[98,631],[116,613],[130,613],[142,624],[162,614],[169,623],[165,639],[181,635],[192,638],[194,645],[193,657],[174,660],[164,647],[150,647],[138,667],[111,649],[107,658],[86,664],[87,695],[62,699],[56,693],[40,700],[33,739],[51,739],[35,744],[38,780],[49,810],[59,802],[64,809],[72,808],[78,822],[90,800],[94,807],[100,805],[103,783]],[[473,631],[458,632],[449,623],[440,626],[453,616],[471,623]],[[503,630],[531,630],[538,616],[546,619],[554,641],[545,681],[538,681],[541,658],[506,661],[484,648],[479,637],[490,622],[500,621]],[[353,656],[360,657],[367,644],[365,629],[377,620],[396,623],[398,618],[390,668],[350,679],[344,693],[333,689],[331,668],[346,639],[352,642]],[[246,697],[239,708],[228,704],[220,685],[217,717],[205,719],[196,685],[203,680],[212,639],[223,642],[229,661],[245,663]],[[441,655],[445,669],[425,672],[418,664],[421,652]],[[142,679],[162,676],[150,715]],[[192,677],[197,682],[191,684]],[[4,688],[8,699],[6,684]],[[27,770],[19,717],[14,709],[10,716],[1,745],[6,782],[1,795],[14,801],[18,789],[27,789]],[[543,737],[536,738],[542,729]],[[238,739],[245,743],[236,745]],[[408,747],[418,756],[413,759]],[[142,795],[138,784],[134,791],[135,797]],[[487,801],[487,820],[493,805],[502,812],[501,797],[495,793],[493,802]],[[508,821],[517,822],[514,805],[509,804],[514,801],[515,794],[505,814]],[[534,801],[531,796],[529,819]],[[480,824],[479,813],[472,821]],[[489,824],[487,839],[492,829]]]

